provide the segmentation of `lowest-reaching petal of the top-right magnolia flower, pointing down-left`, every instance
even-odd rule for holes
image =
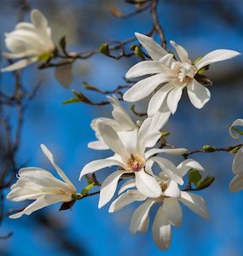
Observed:
[[[174,88],[175,84],[168,83],[154,93],[148,103],[148,116],[152,116],[159,111],[159,108],[162,106],[163,102],[165,102],[166,96]]]

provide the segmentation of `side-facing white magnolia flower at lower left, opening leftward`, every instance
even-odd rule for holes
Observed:
[[[50,172],[39,167],[28,167],[20,169],[18,181],[11,187],[7,199],[10,201],[35,200],[22,212],[11,215],[9,218],[20,218],[23,214],[30,215],[43,207],[57,202],[72,201],[72,195],[77,191],[72,182],[59,166],[55,164],[53,154],[43,144],[43,154],[55,167],[56,172],[62,180],[54,177]]]

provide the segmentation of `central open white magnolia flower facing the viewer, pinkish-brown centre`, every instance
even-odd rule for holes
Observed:
[[[154,177],[145,172],[145,167],[148,160],[159,153],[166,154],[184,154],[188,150],[185,148],[161,149],[153,148],[146,151],[146,148],[151,148],[158,142],[161,136],[159,131],[154,131],[154,126],[157,125],[155,119],[145,119],[139,130],[120,131],[117,132],[107,125],[106,122],[97,122],[97,128],[100,135],[107,144],[107,147],[113,150],[114,155],[107,159],[94,160],[84,166],[80,173],[80,179],[85,174],[96,172],[106,167],[119,166],[119,170],[109,175],[101,184],[101,194],[98,207],[101,208],[110,201],[116,191],[119,178],[125,173],[134,173],[136,188],[142,194],[150,197],[158,197],[160,187]],[[171,173],[171,175],[174,175]],[[180,177],[177,177],[180,179]]]

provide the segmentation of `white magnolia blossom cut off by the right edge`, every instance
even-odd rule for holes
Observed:
[[[239,138],[239,133],[234,132],[234,126],[243,126],[243,119],[236,119],[229,127],[229,133],[234,139]],[[232,171],[235,174],[229,183],[229,190],[237,192],[243,189],[243,147],[234,156]]]

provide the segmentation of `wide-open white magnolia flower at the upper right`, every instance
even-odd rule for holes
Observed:
[[[188,96],[194,107],[203,108],[210,100],[210,91],[200,84],[194,76],[203,67],[217,61],[224,61],[240,55],[230,49],[216,49],[203,56],[196,63],[188,59],[188,52],[181,45],[171,41],[176,49],[179,61],[173,58],[164,48],[157,44],[153,38],[136,33],[136,38],[152,58],[152,61],[141,61],[131,67],[126,73],[127,79],[152,75],[134,84],[124,93],[124,101],[137,102],[153,94],[149,105],[148,115],[156,113],[163,102],[166,102],[171,113],[176,112],[178,102],[182,97],[182,90],[187,87]],[[163,86],[161,86],[163,85]]]

